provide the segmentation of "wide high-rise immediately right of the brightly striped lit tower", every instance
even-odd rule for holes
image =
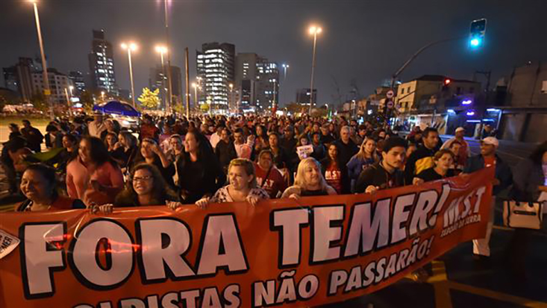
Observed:
[[[236,87],[241,109],[265,112],[279,104],[279,66],[256,53],[238,53]]]

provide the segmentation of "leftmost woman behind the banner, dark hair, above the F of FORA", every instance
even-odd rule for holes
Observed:
[[[26,168],[21,177],[21,192],[26,200],[17,207],[17,212],[85,209],[81,200],[58,193],[55,169],[45,164],[31,164]]]

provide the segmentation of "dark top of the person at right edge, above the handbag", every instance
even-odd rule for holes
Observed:
[[[524,202],[537,201],[541,194],[538,186],[545,185],[545,180],[541,164],[535,164],[530,159],[521,161],[513,173],[512,198]]]

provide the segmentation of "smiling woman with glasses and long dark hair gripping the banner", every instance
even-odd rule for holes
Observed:
[[[172,191],[153,164],[134,166],[130,181],[121,191],[114,204],[94,206],[92,212],[112,213],[114,207],[144,207],[150,205],[167,205],[171,209],[179,207],[177,194]]]

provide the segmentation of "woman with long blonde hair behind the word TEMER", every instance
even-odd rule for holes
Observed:
[[[327,195],[336,195],[336,190],[327,185],[319,162],[308,157],[298,164],[295,185],[288,187],[281,198]]]

